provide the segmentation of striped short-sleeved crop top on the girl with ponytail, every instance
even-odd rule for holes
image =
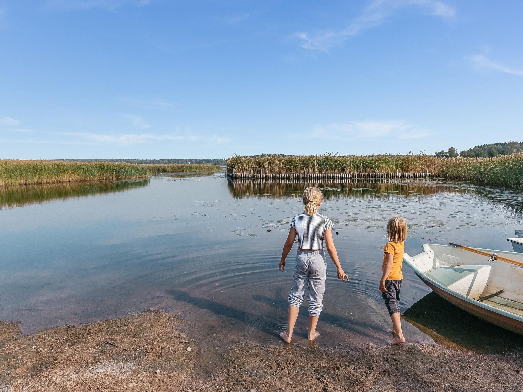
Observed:
[[[298,234],[298,247],[302,249],[322,249],[323,233],[332,226],[329,218],[318,213],[308,215],[302,212],[291,221],[291,227],[294,227]]]

